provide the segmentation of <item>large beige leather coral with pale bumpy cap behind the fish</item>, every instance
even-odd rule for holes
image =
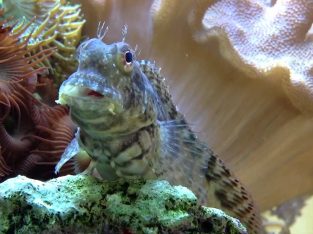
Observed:
[[[73,2],[83,39],[105,21],[104,40],[120,40],[128,25],[127,41],[161,66],[192,128],[262,211],[312,193],[310,1]],[[301,204],[288,210],[299,214],[291,233],[313,230],[312,198]]]

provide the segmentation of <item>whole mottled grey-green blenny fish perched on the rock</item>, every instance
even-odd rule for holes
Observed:
[[[84,42],[78,60],[57,102],[70,107],[80,128],[71,145],[88,153],[90,173],[106,180],[161,177],[188,186],[206,205],[238,217],[249,233],[262,233],[251,196],[197,139],[173,104],[160,69],[137,61],[127,43],[105,44],[101,38]],[[73,156],[63,154],[57,168]]]

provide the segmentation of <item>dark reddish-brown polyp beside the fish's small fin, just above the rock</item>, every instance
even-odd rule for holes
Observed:
[[[55,177],[55,164],[74,136],[76,126],[66,107],[32,101],[36,103],[29,105],[32,114],[27,116],[28,123],[24,121],[27,128],[16,134],[0,126],[0,145],[5,149],[0,155],[0,181],[18,174],[41,180]],[[13,129],[16,131],[16,126]],[[73,174],[74,170],[70,161],[60,174]]]

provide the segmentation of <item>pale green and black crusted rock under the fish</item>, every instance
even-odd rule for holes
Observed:
[[[0,184],[0,233],[247,233],[164,180],[101,182],[86,175]]]

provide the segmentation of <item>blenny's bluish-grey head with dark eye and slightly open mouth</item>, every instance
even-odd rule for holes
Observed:
[[[61,85],[57,103],[71,108],[83,130],[95,135],[119,124],[110,134],[122,134],[155,121],[158,96],[127,43],[90,39],[77,56],[78,70]],[[130,124],[121,125],[125,121]]]

